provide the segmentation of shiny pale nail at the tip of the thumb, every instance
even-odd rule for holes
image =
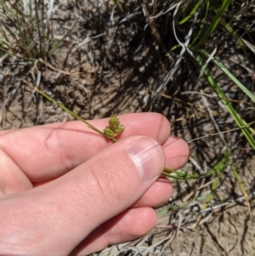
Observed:
[[[154,139],[139,137],[127,146],[127,153],[136,165],[143,182],[156,179],[164,168],[164,152]]]

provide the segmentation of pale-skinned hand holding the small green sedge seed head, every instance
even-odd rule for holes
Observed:
[[[160,114],[119,118],[114,144],[79,121],[0,133],[1,255],[87,255],[154,228],[172,194],[162,168],[182,168],[189,148]]]

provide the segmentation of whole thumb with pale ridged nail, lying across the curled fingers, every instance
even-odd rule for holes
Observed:
[[[5,200],[0,208],[13,224],[6,235],[15,234],[8,242],[19,247],[29,242],[34,255],[46,247],[51,253],[71,252],[96,227],[133,205],[156,181],[164,163],[161,145],[148,137],[110,145],[59,179]]]

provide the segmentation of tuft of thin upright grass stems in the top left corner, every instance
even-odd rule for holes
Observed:
[[[50,65],[49,56],[65,43],[76,25],[56,38],[53,12],[54,0],[0,1],[0,56],[28,65]]]

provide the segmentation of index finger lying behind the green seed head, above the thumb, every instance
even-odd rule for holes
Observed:
[[[119,118],[126,126],[119,139],[144,135],[156,139],[162,145],[169,137],[169,122],[160,114],[137,113]],[[108,118],[89,122],[103,130],[108,124]],[[109,139],[80,121],[58,122],[0,133],[0,148],[32,182],[65,174],[107,145],[111,145]]]

